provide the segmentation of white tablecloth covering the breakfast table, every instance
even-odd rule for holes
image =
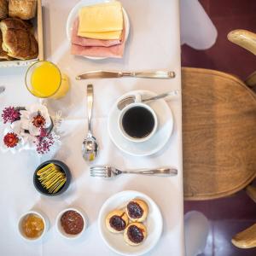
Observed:
[[[61,111],[61,145],[54,152],[38,156],[32,151],[0,154],[0,252],[1,255],[117,255],[102,241],[97,217],[102,204],[117,192],[137,190],[150,196],[160,207],[163,232],[160,241],[146,255],[184,255],[183,243],[183,166],[182,102],[178,0],[121,0],[130,20],[130,34],[121,59],[88,60],[70,54],[67,41],[67,16],[79,0],[43,0],[44,58],[55,62],[70,79],[71,90],[60,100],[44,100],[50,113]],[[175,79],[90,79],[78,81],[75,76],[90,70],[172,70]],[[0,70],[0,110],[38,102],[24,83],[26,67]],[[90,177],[89,164],[81,147],[86,136],[86,84],[94,84],[95,104],[92,129],[99,142],[97,165],[121,169],[158,166],[177,168],[176,177],[121,176],[114,180]],[[166,146],[157,154],[145,157],[121,152],[108,136],[108,113],[117,98],[131,90],[151,90],[157,94],[179,90],[168,102],[174,126]],[[3,125],[0,132],[3,134]],[[162,138],[164,139],[164,137]],[[72,183],[65,193],[44,196],[34,188],[32,177],[44,160],[61,160],[72,172]],[[55,218],[64,208],[77,206],[86,212],[89,226],[78,240],[68,241],[55,230]],[[44,212],[50,229],[44,239],[23,240],[17,230],[20,215],[31,209]]]

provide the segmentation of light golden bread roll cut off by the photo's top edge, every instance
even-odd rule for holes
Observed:
[[[37,0],[9,0],[9,16],[30,20],[36,15]]]

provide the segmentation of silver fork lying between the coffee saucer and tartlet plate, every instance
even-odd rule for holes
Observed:
[[[156,169],[138,169],[138,170],[126,170],[121,171],[112,166],[91,166],[90,176],[91,177],[115,177],[120,174],[143,174],[143,175],[154,175],[162,177],[170,177],[177,175],[177,169],[171,167],[163,167]]]

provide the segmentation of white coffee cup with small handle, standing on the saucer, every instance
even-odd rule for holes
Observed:
[[[140,94],[137,93],[137,94],[134,94],[133,96],[135,96],[135,102],[127,105],[119,113],[119,119],[118,119],[119,131],[123,135],[123,137],[125,137],[127,140],[134,143],[142,143],[142,142],[148,141],[148,139],[154,135],[155,131],[157,130],[158,120],[157,120],[156,114],[154,113],[154,109],[148,106],[148,104],[145,104],[142,102],[142,96]],[[125,114],[131,111],[131,108],[137,108],[137,107],[144,108],[145,110],[147,110],[147,112],[151,114],[152,119],[154,119],[154,124],[151,131],[149,131],[148,134],[143,137],[131,136],[131,134],[128,133],[127,129],[125,129],[123,124],[123,119],[125,117]]]

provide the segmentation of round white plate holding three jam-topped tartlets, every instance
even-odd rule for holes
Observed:
[[[103,241],[115,253],[143,255],[159,241],[163,218],[155,202],[141,192],[119,192],[102,205],[98,226]]]

